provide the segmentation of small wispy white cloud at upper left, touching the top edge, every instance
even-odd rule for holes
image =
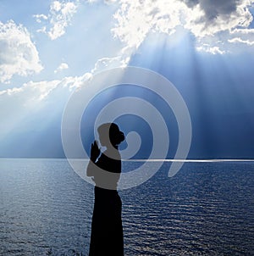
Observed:
[[[49,14],[36,14],[34,17],[38,23],[45,23],[39,32],[46,33],[52,40],[65,34],[65,29],[70,25],[73,15],[77,11],[78,2],[53,1],[50,5]],[[49,21],[49,22],[48,22]]]

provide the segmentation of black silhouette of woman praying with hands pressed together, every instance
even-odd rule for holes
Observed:
[[[108,123],[98,127],[98,134],[101,145],[107,149],[101,153],[97,142],[92,143],[86,170],[86,175],[96,184],[89,256],[122,256],[122,202],[117,185],[121,173],[118,145],[124,141],[124,133],[119,131],[118,125]]]

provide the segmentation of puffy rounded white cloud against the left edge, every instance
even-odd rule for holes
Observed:
[[[42,70],[36,45],[23,25],[13,20],[0,22],[0,82],[8,83],[13,75],[30,75]]]

